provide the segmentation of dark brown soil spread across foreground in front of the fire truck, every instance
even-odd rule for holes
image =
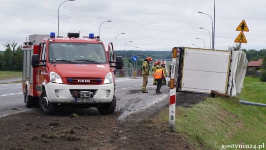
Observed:
[[[44,115],[35,109],[0,117],[0,150],[195,150],[168,132],[168,122],[119,121],[119,115],[100,115],[97,109]]]

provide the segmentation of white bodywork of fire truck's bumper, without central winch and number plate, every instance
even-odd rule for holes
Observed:
[[[110,103],[114,96],[114,85],[68,85],[49,82],[45,85],[46,95],[51,103],[75,103],[75,98],[72,97],[70,90],[96,90],[94,95],[94,103]],[[56,93],[58,95],[56,96]],[[108,94],[109,93],[109,94]]]

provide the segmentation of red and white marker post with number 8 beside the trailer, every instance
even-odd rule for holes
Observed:
[[[169,101],[169,130],[171,132],[175,131],[175,94],[176,94],[176,86],[174,84],[174,76],[175,76],[175,68],[177,65],[176,57],[177,57],[177,47],[172,49],[173,58],[172,58],[172,67],[171,67],[171,76],[170,76],[170,101]]]

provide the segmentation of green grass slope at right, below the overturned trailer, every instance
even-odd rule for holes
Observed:
[[[244,88],[237,97],[207,98],[192,108],[177,108],[177,134],[199,150],[201,145],[210,150],[221,150],[221,145],[266,143],[266,108],[241,105],[239,100],[266,104],[266,82],[245,77]],[[161,112],[160,116],[168,121],[167,111]]]

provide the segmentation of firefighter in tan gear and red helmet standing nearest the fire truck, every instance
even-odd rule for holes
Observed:
[[[142,93],[148,93],[148,91],[146,90],[146,85],[148,83],[148,76],[149,76],[149,62],[152,61],[151,57],[147,57],[144,62],[142,63],[142,76],[143,76],[143,82],[142,82],[142,87],[141,87],[141,91]]]

